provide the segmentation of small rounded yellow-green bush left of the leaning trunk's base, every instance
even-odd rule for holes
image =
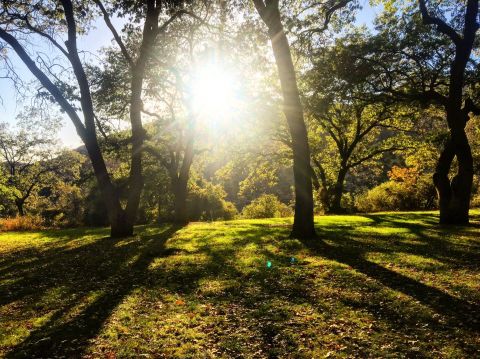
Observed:
[[[254,199],[242,211],[243,218],[291,217],[293,211],[273,194],[264,194]]]

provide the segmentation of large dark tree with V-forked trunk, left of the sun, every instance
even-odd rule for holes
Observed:
[[[129,190],[125,207],[119,198],[109,175],[105,159],[97,138],[97,124],[90,82],[87,78],[85,65],[80,58],[77,47],[77,37],[84,31],[88,21],[94,16],[87,1],[73,2],[61,0],[61,6],[52,1],[39,1],[32,4],[29,1],[2,1],[0,23],[0,38],[8,43],[20,57],[23,63],[46,89],[52,100],[56,101],[71,119],[78,135],[82,139],[92,162],[94,173],[102,192],[103,201],[107,207],[111,224],[111,236],[123,237],[133,233],[140,195],[143,187],[142,151],[145,131],[142,125],[142,93],[145,70],[152,57],[152,48],[157,37],[165,31],[168,25],[184,12],[174,11],[160,25],[165,10],[176,9],[181,1],[146,0],[141,4],[133,1],[113,2],[112,11],[119,10],[122,14],[133,14],[137,20],[144,20],[142,41],[137,56],[132,56],[124,46],[121,37],[112,26],[109,13],[100,1],[95,1],[104,15],[107,26],[122,50],[125,60],[130,66],[130,101],[129,117],[131,124],[131,161],[129,174]],[[62,30],[66,30],[65,47],[59,41]],[[74,85],[62,81],[52,74],[52,67],[46,67],[34,61],[34,56],[27,52],[21,40],[24,36],[38,36],[53,46],[64,56],[71,66]],[[63,67],[62,67],[63,68]],[[79,111],[78,107],[81,109]],[[81,117],[83,116],[83,121]]]

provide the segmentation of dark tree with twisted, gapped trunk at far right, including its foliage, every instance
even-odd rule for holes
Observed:
[[[388,62],[395,65],[385,67],[382,61],[376,61],[378,57],[370,63],[383,67],[382,76],[389,83],[387,91],[396,98],[443,109],[450,136],[433,176],[440,223],[466,224],[473,158],[465,126],[470,113],[479,113],[474,104],[478,73],[471,61],[476,48],[478,1],[469,0],[465,5],[454,1],[402,2],[403,14],[393,6],[395,1],[384,3],[388,11],[377,27],[381,36],[390,40],[382,52],[386,50]],[[437,31],[432,32],[431,25]],[[392,53],[396,62],[391,61]],[[450,180],[455,158],[458,170]]]

